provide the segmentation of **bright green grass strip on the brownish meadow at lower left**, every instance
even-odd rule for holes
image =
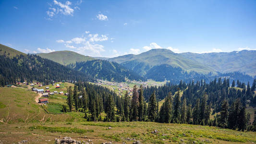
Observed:
[[[46,126],[32,126],[29,127],[30,130],[44,130],[47,132],[73,132],[73,133],[85,133],[85,132],[94,132],[93,130],[84,130],[79,128],[71,128],[71,127],[46,127]]]

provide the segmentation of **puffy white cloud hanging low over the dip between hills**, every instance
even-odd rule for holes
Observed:
[[[98,44],[91,44],[89,41],[85,42],[83,47],[77,48],[77,52],[84,55],[100,56],[100,52],[105,51],[104,46]]]

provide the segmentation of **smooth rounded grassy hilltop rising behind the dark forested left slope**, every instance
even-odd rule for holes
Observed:
[[[95,60],[92,57],[84,56],[79,53],[68,50],[54,51],[50,53],[38,53],[37,55],[42,58],[49,59],[63,65],[68,65],[79,61]]]

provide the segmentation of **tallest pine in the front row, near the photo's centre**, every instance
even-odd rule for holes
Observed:
[[[137,86],[134,85],[133,97],[132,97],[132,106],[131,106],[131,120],[137,121],[138,117],[138,106],[139,106],[139,94],[137,91]]]

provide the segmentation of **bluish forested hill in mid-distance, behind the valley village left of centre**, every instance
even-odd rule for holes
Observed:
[[[124,82],[127,79],[136,81],[145,81],[145,79],[133,72],[126,69],[116,62],[107,60],[89,60],[86,62],[76,62],[75,64],[68,65],[74,70],[84,72],[92,77],[102,80]]]

